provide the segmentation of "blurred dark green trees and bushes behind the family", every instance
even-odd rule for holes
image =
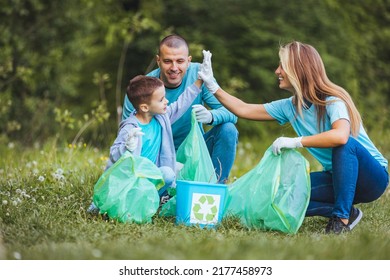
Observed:
[[[154,69],[159,41],[177,33],[193,61],[211,50],[219,84],[253,103],[288,96],[274,75],[281,43],[313,45],[390,156],[388,0],[0,3],[0,145],[109,147],[128,80]],[[255,142],[289,128],[239,120],[238,129]]]

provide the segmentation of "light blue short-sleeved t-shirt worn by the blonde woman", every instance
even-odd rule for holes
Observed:
[[[295,109],[292,97],[264,104],[264,107],[268,114],[276,119],[279,124],[289,122],[298,136],[309,136],[330,130],[332,124],[338,119],[346,119],[349,121],[348,110],[344,102],[335,97],[329,97],[327,100],[334,100],[335,102],[329,103],[326,106],[325,123],[324,127],[321,128],[318,128],[317,125],[317,110],[315,109],[315,106],[311,105],[309,108],[303,109],[303,117],[301,117]],[[382,166],[387,168],[387,160],[372,143],[363,126],[360,127],[356,140],[360,142],[360,144],[362,144]],[[321,163],[324,170],[332,170],[332,148],[307,149]]]

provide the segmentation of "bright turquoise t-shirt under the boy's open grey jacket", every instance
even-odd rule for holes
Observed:
[[[142,136],[141,156],[156,163],[160,152],[162,127],[156,118],[152,118],[148,124],[138,122],[138,125],[142,128],[142,132],[145,133],[145,135]]]

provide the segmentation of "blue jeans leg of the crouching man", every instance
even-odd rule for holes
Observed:
[[[230,170],[236,158],[238,131],[233,123],[214,126],[204,135],[218,183],[224,184],[229,178]]]

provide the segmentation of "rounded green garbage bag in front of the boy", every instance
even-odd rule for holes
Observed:
[[[125,152],[94,186],[93,202],[100,213],[123,223],[149,223],[160,204],[164,186],[160,169],[145,157]]]

